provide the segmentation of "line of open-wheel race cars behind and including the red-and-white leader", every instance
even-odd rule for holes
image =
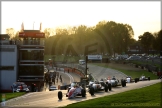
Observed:
[[[138,81],[145,81],[145,80],[150,80],[150,77],[145,77],[144,75],[142,75],[140,78],[135,78],[132,79],[131,76],[128,76],[126,79],[117,79],[115,78],[115,76],[113,76],[112,78],[107,78],[107,79],[101,79],[100,81],[88,81],[89,84],[85,85],[85,83],[82,82],[73,82],[69,85],[65,85],[67,88],[67,93],[66,93],[66,97],[68,97],[68,99],[72,99],[75,98],[76,96],[81,96],[81,97],[85,97],[86,96],[86,88],[88,88],[88,92],[91,95],[94,95],[95,93],[97,93],[98,91],[111,91],[112,87],[116,87],[116,86],[122,86],[125,87],[126,83],[137,83]],[[59,91],[58,93],[58,98],[61,100],[62,99],[62,92]]]

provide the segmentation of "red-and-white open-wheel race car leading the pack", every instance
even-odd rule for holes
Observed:
[[[85,97],[85,95],[86,95],[86,89],[83,86],[80,86],[79,83],[73,82],[73,83],[71,83],[70,87],[68,88],[66,97],[71,99],[76,96]]]

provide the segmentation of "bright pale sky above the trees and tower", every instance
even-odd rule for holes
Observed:
[[[134,38],[161,30],[160,1],[2,1],[1,34],[7,28],[38,30],[67,26],[95,26],[99,21],[129,24]]]

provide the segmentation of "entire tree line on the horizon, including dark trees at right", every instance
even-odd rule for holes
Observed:
[[[13,29],[6,33],[12,39],[18,39],[18,31],[13,34]],[[134,39],[133,28],[129,24],[114,21],[100,21],[93,27],[85,25],[69,28],[46,28],[45,55],[87,55],[87,54],[122,54],[134,43],[140,43],[146,49],[160,51],[162,30],[157,33],[144,32],[139,40]]]

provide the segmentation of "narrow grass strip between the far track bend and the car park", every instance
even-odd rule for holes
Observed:
[[[138,71],[124,70],[124,69],[121,69],[119,67],[117,68],[117,67],[112,67],[112,66],[109,66],[109,65],[105,65],[104,63],[96,64],[96,65],[118,70],[118,71],[120,71],[120,72],[122,72],[122,73],[124,73],[124,74],[126,74],[128,76],[131,76],[132,78],[139,78],[142,74],[145,75],[146,77],[150,76],[151,79],[157,79],[158,78],[156,75],[154,75],[151,72],[148,72],[147,70],[138,70]]]

